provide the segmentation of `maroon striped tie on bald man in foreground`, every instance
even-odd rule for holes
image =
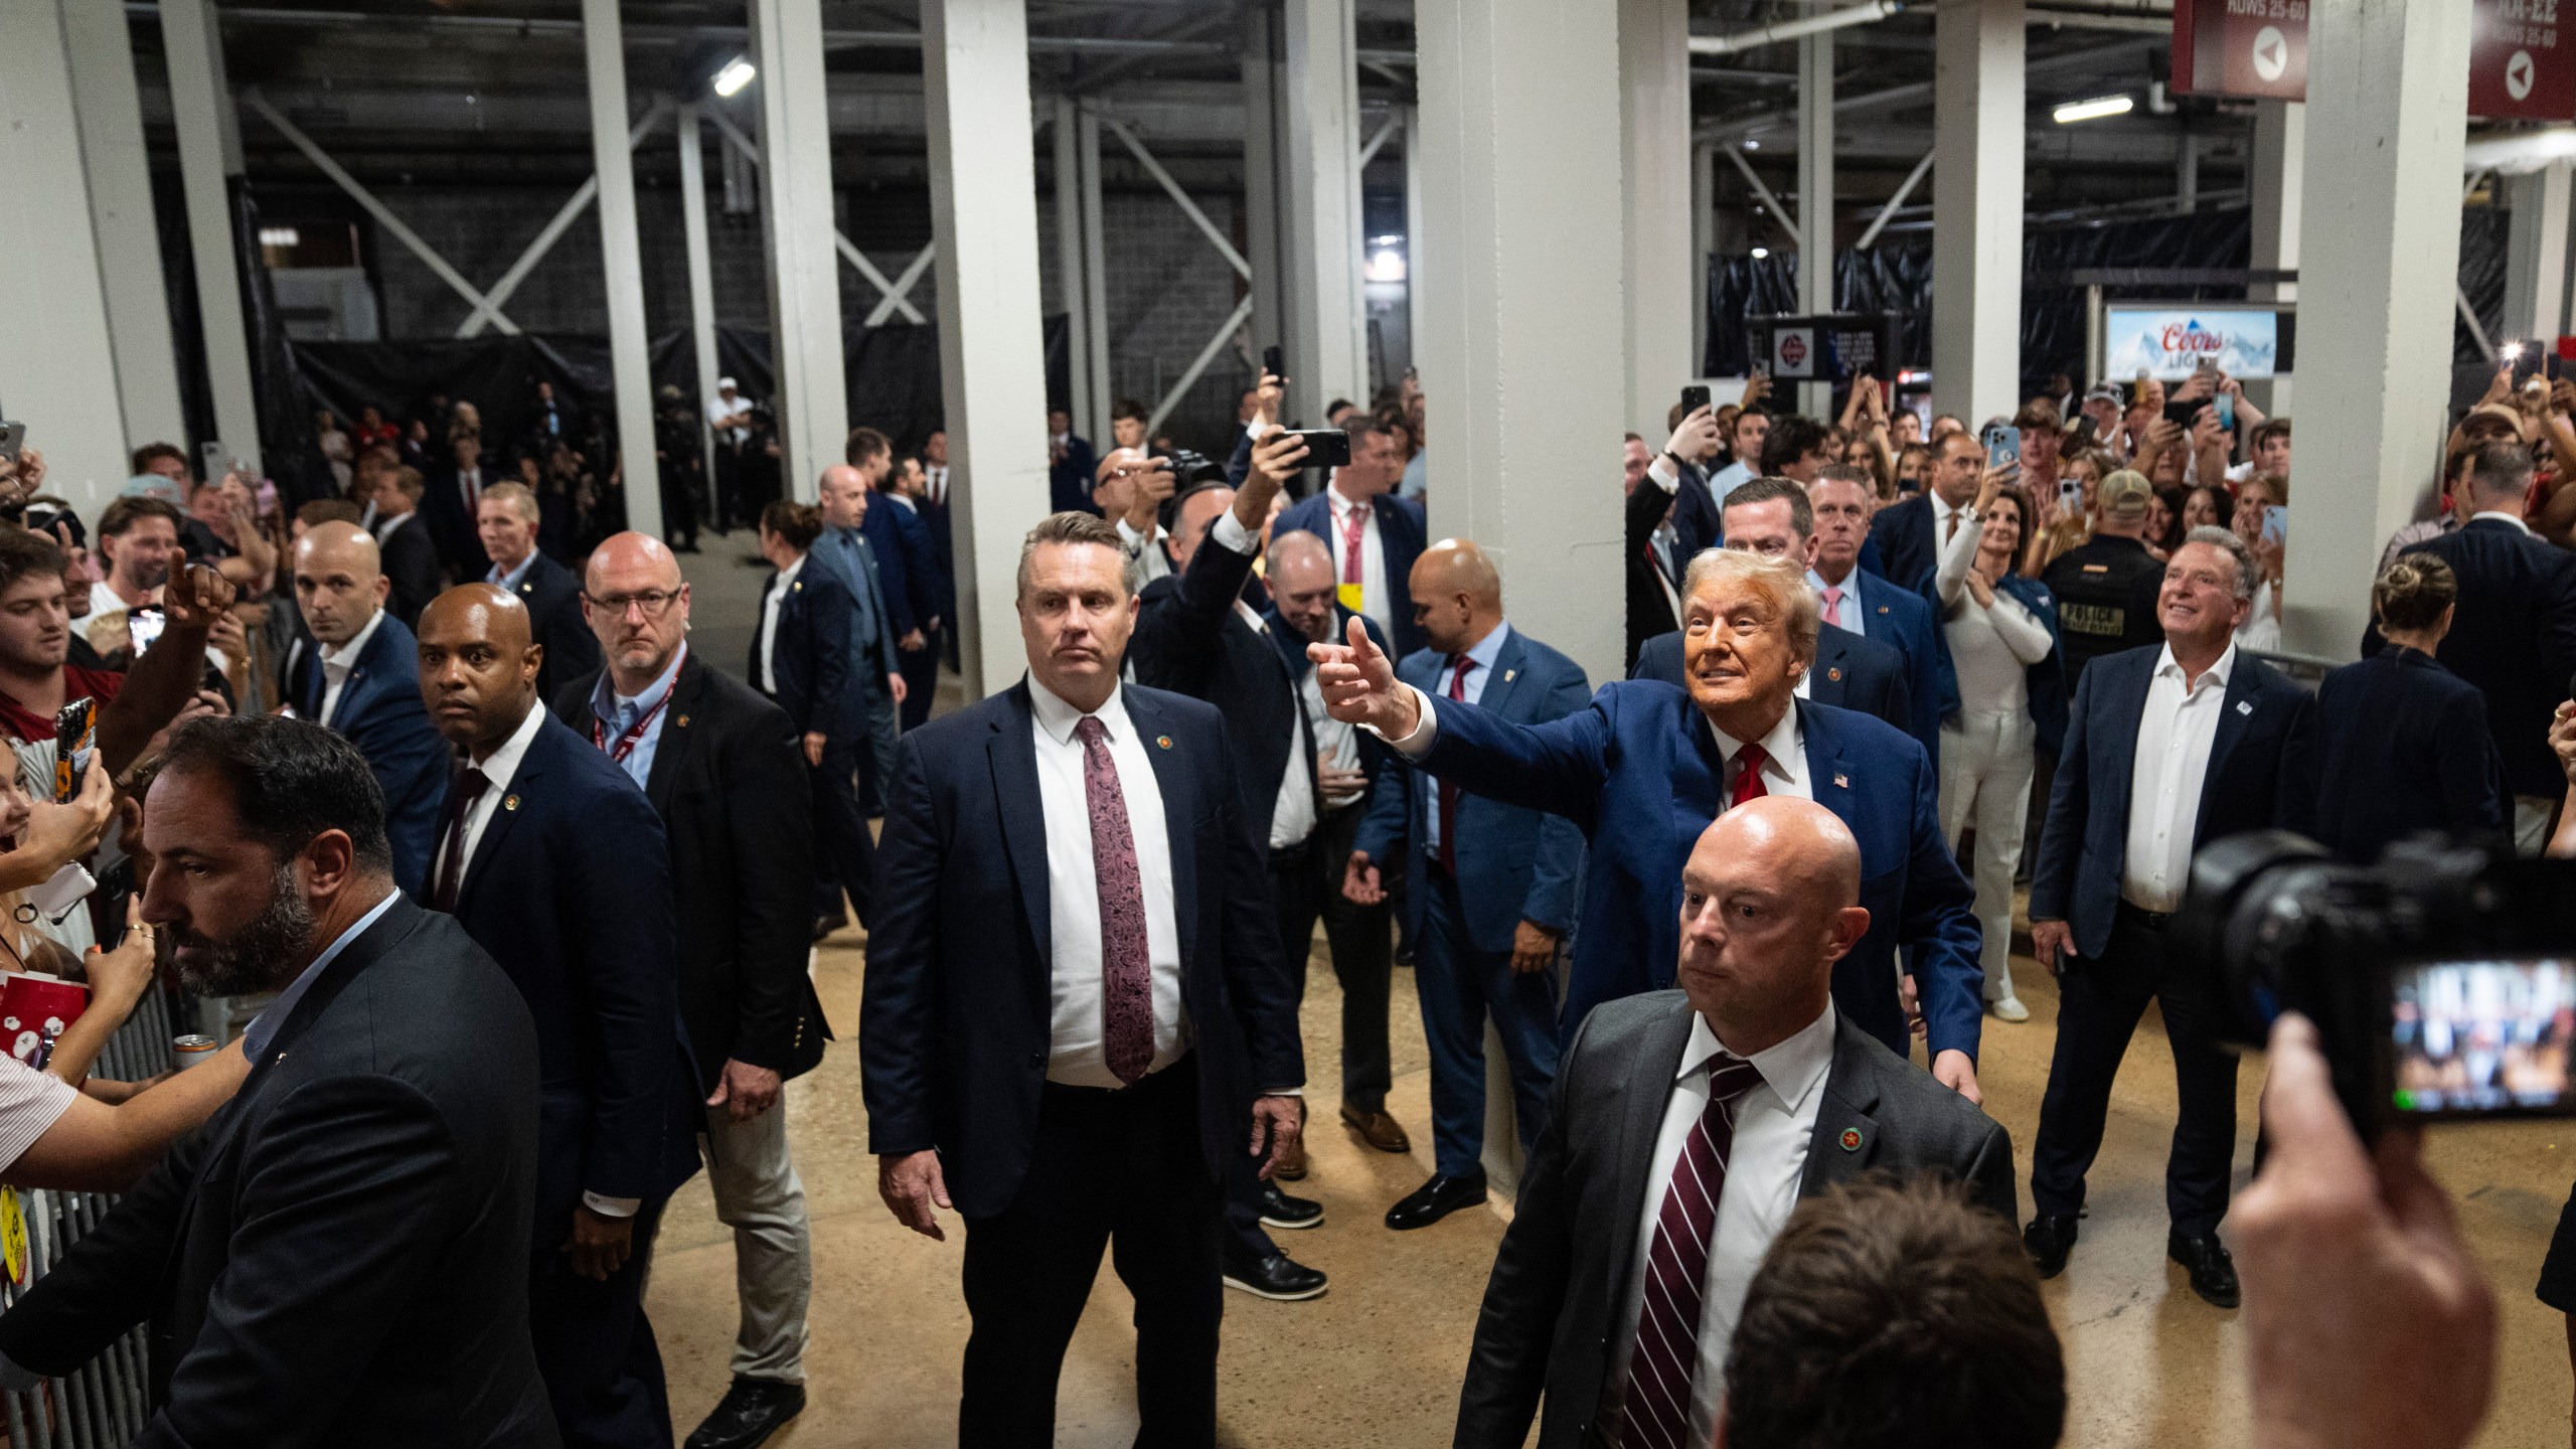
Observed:
[[[1682,1140],[1654,1217],[1646,1256],[1646,1294],[1636,1315],[1636,1351],[1628,1356],[1628,1395],[1620,1403],[1620,1449],[1685,1449],[1690,1444],[1690,1377],[1700,1366],[1700,1292],[1708,1284],[1708,1240],[1718,1227],[1726,1191],[1726,1152],[1736,1140],[1736,1101],[1762,1085],[1744,1057],[1708,1057],[1708,1111]]]

